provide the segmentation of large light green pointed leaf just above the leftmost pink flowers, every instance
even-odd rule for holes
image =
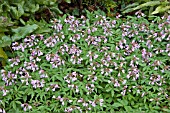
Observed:
[[[12,29],[12,32],[14,32],[14,36],[12,36],[12,41],[19,40],[21,38],[24,38],[25,36],[29,35],[33,31],[35,31],[38,28],[38,25],[26,25],[25,27],[18,27],[17,29]]]

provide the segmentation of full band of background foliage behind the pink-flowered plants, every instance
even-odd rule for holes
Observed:
[[[9,47],[11,42],[20,40],[31,33],[48,33],[50,29],[43,28],[47,27],[51,18],[63,12],[80,15],[85,12],[85,9],[95,11],[98,8],[105,11],[109,17],[116,16],[117,12],[123,11],[127,14],[142,9],[150,16],[149,19],[154,19],[153,14],[168,12],[170,7],[167,0],[1,0],[0,58],[7,59],[7,56],[11,56],[8,52],[9,48],[4,48]],[[5,65],[3,59],[0,61],[2,60],[2,65]]]

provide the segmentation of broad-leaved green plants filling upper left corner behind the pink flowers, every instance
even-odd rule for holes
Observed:
[[[69,0],[67,0],[70,3]],[[0,57],[7,59],[2,47],[31,33],[48,33],[47,21],[62,13],[57,0],[1,0],[0,1]],[[5,62],[3,60],[3,65]]]

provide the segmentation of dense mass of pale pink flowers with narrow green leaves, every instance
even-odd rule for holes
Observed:
[[[170,111],[170,16],[86,12],[12,43],[16,57],[0,73],[1,111]]]

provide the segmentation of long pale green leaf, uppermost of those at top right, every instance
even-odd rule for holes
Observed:
[[[143,3],[143,4],[133,8],[133,10],[138,10],[138,9],[142,9],[143,7],[155,6],[155,5],[159,5],[159,4],[161,4],[160,1],[149,1],[149,2]]]

